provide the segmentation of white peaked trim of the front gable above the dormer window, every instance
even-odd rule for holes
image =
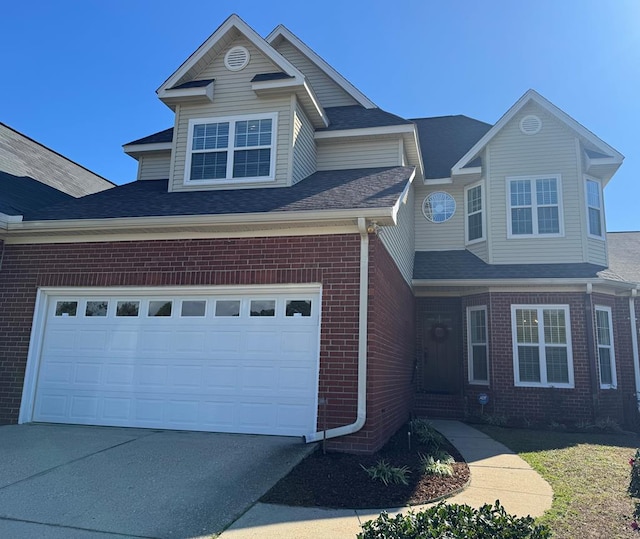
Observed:
[[[156,90],[158,96],[162,98],[167,90],[175,89],[176,86],[184,85],[195,79],[231,42],[240,36],[249,40],[253,46],[273,62],[277,67],[277,71],[293,77],[299,83],[303,83],[304,76],[293,64],[262,39],[238,15],[233,14],[162,83]]]

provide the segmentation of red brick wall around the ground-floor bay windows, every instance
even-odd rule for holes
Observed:
[[[427,302],[430,298],[421,298]],[[489,404],[484,412],[509,418],[513,421],[594,421],[610,417],[620,424],[631,422],[630,403],[635,392],[631,330],[629,325],[628,298],[593,294],[593,305],[612,308],[614,348],[616,354],[617,389],[600,389],[597,379],[596,359],[589,355],[587,339],[587,311],[584,293],[498,293],[479,294],[463,298],[463,372],[467,376],[468,353],[466,342],[466,307],[486,305],[489,324],[489,386],[465,384],[466,413],[478,413],[479,393],[488,393]],[[573,350],[574,389],[515,387],[513,367],[513,343],[511,332],[512,304],[562,304],[569,305]],[[594,312],[591,311],[594,316]],[[595,334],[593,336],[595,339]],[[595,352],[595,341],[593,342]],[[591,376],[598,380],[595,393]],[[436,406],[432,415],[442,410]],[[633,405],[631,405],[633,408]],[[424,413],[424,411],[423,411]],[[453,413],[453,412],[452,412]]]

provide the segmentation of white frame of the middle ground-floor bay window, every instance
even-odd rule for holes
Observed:
[[[539,349],[539,361],[540,361],[540,382],[521,382],[520,381],[520,365],[518,361],[518,332],[516,327],[516,310],[518,309],[535,309],[538,311],[538,349]],[[547,382],[547,362],[545,357],[544,345],[544,323],[542,322],[542,311],[555,309],[564,311],[564,320],[566,324],[567,335],[567,370],[569,372],[569,382]],[[547,305],[547,304],[535,304],[535,305],[511,305],[511,340],[513,346],[513,380],[516,387],[559,387],[573,389],[574,376],[573,376],[573,346],[571,344],[571,318],[569,316],[568,305]]]

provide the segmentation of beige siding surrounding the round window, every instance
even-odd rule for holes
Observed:
[[[422,213],[422,202],[429,193],[444,191],[456,201],[453,217],[444,223],[431,223]],[[414,204],[416,251],[450,251],[465,249],[464,244],[464,186],[417,185]]]

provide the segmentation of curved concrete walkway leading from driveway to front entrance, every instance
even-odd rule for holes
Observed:
[[[553,491],[549,483],[504,445],[459,421],[433,420],[431,423],[456,446],[471,471],[470,485],[447,501],[480,507],[500,500],[507,512],[533,517],[542,515],[551,507]],[[427,506],[414,509],[422,507]],[[395,508],[387,512],[395,514],[406,510]],[[354,538],[361,531],[361,522],[376,518],[380,511],[258,503],[227,529],[221,538]]]

